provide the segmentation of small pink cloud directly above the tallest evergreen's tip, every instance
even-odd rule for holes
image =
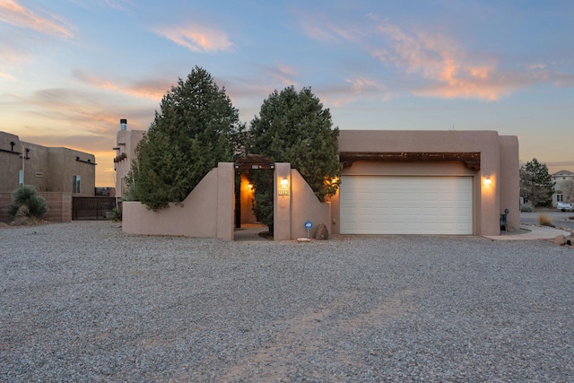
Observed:
[[[230,50],[233,48],[233,44],[225,32],[202,25],[159,28],[154,32],[193,52]]]

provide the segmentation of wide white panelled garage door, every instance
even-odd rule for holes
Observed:
[[[473,234],[471,177],[344,176],[342,234]]]

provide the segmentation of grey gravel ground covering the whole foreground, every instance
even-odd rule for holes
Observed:
[[[573,381],[574,249],[0,229],[0,381]]]

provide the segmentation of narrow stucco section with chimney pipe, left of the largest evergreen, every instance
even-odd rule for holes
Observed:
[[[114,170],[116,170],[116,196],[123,197],[126,193],[126,177],[132,166],[135,156],[135,147],[143,138],[144,130],[127,130],[127,119],[119,120],[120,130],[116,135],[116,158],[114,158]]]

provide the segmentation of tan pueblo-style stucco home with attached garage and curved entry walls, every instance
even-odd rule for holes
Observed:
[[[118,132],[117,147],[127,147],[130,134]],[[141,134],[135,131],[134,136]],[[118,182],[126,174],[120,174],[121,162],[129,161],[130,154],[118,154]],[[305,237],[309,226],[314,235],[319,223],[332,234],[498,235],[505,209],[509,227],[519,226],[516,136],[341,130],[339,158],[341,187],[326,203],[317,200],[289,163],[249,164],[249,169],[274,171],[275,240]],[[235,188],[236,173],[244,165],[220,163],[182,204],[168,209],[152,212],[138,202],[124,202],[123,230],[233,239],[235,226],[256,221],[247,178],[242,178],[239,196]]]

